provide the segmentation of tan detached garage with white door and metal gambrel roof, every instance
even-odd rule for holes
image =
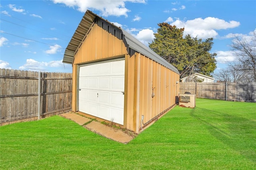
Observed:
[[[73,111],[139,133],[176,104],[178,70],[90,11],[70,40],[63,62],[73,66]]]

